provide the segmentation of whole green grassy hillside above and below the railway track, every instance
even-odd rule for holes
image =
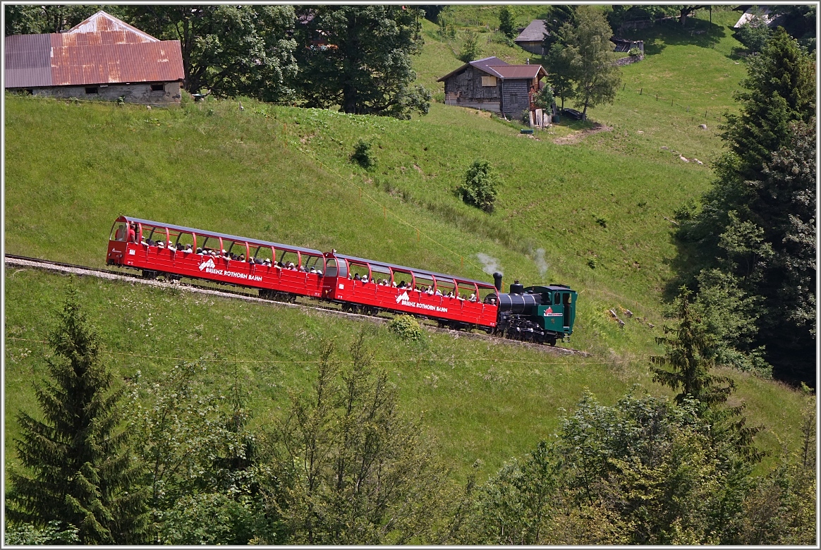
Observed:
[[[479,26],[488,13],[479,8],[454,17]],[[528,10],[539,9],[520,8],[520,25]],[[425,426],[458,474],[477,459],[481,474],[489,474],[553,433],[558,408],[573,406],[585,387],[603,403],[633,383],[663,392],[650,382],[647,358],[661,351],[654,337],[662,334],[663,292],[676,261],[666,218],[708,188],[721,152],[710,113],[734,108],[732,92],[745,72],[722,17],[729,21],[713,13],[704,34],[648,34],[648,56],[625,67],[616,102],[590,111],[612,130],[590,135],[580,134],[580,123],[562,122],[530,139],[515,124],[441,103],[425,117],[397,121],[250,99],[242,99],[244,111],[235,100],[213,98],[148,111],[7,95],[6,250],[102,266],[112,222],[127,214],[489,281],[484,270],[492,270],[477,255],[488,254],[507,283],[569,284],[580,292],[570,345],[592,358],[441,334],[411,346],[371,323],[77,282],[107,350],[132,354],[110,355],[120,374],[158,375],[175,360],[204,357],[219,388],[236,367],[255,422],[277,414],[284,388],[305,387],[304,361],[316,356],[319,341],[344,342],[365,327],[407,410],[424,410]],[[693,28],[704,25],[700,19]],[[436,38],[435,25],[425,21],[424,33],[417,72],[435,91],[438,76],[461,62],[453,44]],[[511,62],[528,55],[485,46]],[[706,131],[699,128],[702,110],[709,113]],[[580,139],[554,143],[569,136]],[[373,146],[377,164],[369,171],[350,160],[360,139]],[[704,164],[684,163],[680,154]],[[454,194],[475,158],[502,176],[492,214]],[[7,271],[7,337],[44,340],[66,284],[66,277]],[[634,315],[619,328],[609,309]],[[37,342],[7,340],[7,435],[16,433],[16,410],[33,408],[30,383],[44,372],[43,351]],[[236,362],[248,357],[260,362]],[[734,376],[751,421],[767,427],[762,445],[794,445],[800,396]]]

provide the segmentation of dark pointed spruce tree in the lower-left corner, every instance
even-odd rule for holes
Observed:
[[[17,415],[24,469],[9,472],[7,518],[73,525],[84,544],[142,542],[144,493],[120,427],[122,390],[112,390],[98,337],[73,288],[48,344],[49,376],[35,388],[40,414]]]

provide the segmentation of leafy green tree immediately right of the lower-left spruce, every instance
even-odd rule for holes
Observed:
[[[155,544],[245,544],[268,524],[261,509],[255,436],[246,429],[236,378],[232,395],[209,392],[204,364],[131,379],[135,453],[144,465]]]

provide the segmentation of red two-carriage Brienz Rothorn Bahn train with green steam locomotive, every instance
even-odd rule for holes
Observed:
[[[425,269],[375,262],[300,246],[200,231],[121,216],[108,241],[108,265],[169,281],[182,277],[255,288],[261,298],[297,296],[338,304],[343,311],[386,311],[433,319],[440,327],[479,328],[516,340],[548,343],[570,337],[576,291],[569,286],[494,284]]]

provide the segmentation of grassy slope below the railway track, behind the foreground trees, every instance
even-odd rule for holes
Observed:
[[[7,270],[5,427],[12,463],[14,413],[34,412],[31,382],[45,374],[40,357],[48,348],[42,341],[56,323],[68,284],[67,276]],[[646,361],[553,355],[434,332],[407,343],[370,320],[91,277],[75,278],[73,284],[117,374],[133,377],[139,370],[150,379],[182,360],[202,359],[202,376],[214,392],[230,394],[236,375],[257,424],[280,414],[289,390],[308,387],[323,341],[335,339],[339,359],[347,360],[346,346],[365,330],[377,365],[399,387],[403,409],[423,415],[425,431],[438,439],[460,478],[479,461],[476,473],[484,479],[548,437],[557,429],[559,409],[572,409],[585,387],[604,403],[616,401],[633,383],[654,394],[669,393],[652,383]],[[796,392],[732,376],[750,421],[766,427],[759,437],[764,448],[777,451],[779,438],[798,441]]]

